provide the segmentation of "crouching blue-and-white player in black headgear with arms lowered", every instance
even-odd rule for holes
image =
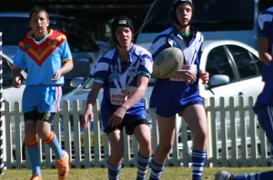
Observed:
[[[116,48],[103,55],[92,75],[94,85],[87,96],[85,127],[93,120],[93,108],[101,88],[101,120],[108,135],[111,152],[107,160],[108,179],[118,179],[124,155],[123,128],[135,135],[139,144],[136,179],[145,179],[151,154],[151,135],[142,97],[152,73],[152,56],[133,44],[134,26],[126,16],[116,17],[111,25]]]

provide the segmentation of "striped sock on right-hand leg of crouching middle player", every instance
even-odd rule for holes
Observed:
[[[137,176],[136,180],[145,180],[147,174],[147,168],[149,166],[150,156],[137,155]]]

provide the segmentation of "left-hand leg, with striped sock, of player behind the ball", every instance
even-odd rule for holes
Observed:
[[[174,145],[176,115],[170,117],[163,117],[157,115],[157,127],[159,134],[159,144],[154,152],[153,158],[150,162],[151,166],[151,180],[160,178],[165,167],[165,161],[169,151]]]

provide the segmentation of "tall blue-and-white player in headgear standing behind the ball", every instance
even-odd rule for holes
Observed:
[[[176,115],[183,116],[193,134],[192,179],[201,179],[207,158],[207,117],[199,95],[199,78],[207,83],[207,72],[199,69],[203,35],[190,25],[194,12],[191,0],[176,0],[172,5],[175,21],[153,41],[153,58],[167,47],[177,47],[185,56],[184,65],[170,78],[157,78],[150,98],[150,107],[157,114],[159,144],[151,160],[150,179],[159,179],[167,154],[174,144]],[[186,133],[186,132],[185,132]]]

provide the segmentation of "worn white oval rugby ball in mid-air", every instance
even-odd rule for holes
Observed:
[[[152,75],[156,78],[169,78],[178,71],[183,62],[183,52],[177,47],[168,47],[156,56]]]

